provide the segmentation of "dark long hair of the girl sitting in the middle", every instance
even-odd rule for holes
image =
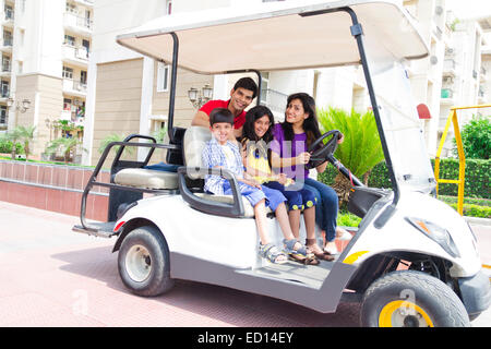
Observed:
[[[262,117],[267,116],[267,118],[270,119],[270,128],[267,129],[266,133],[264,133],[264,135],[260,139],[256,134],[255,134],[255,130],[254,130],[254,122],[258,119],[261,119]],[[253,141],[255,144],[258,144],[258,146],[260,146],[259,142],[264,142],[263,144],[266,145],[267,151],[267,160],[270,163],[270,167],[271,167],[271,149],[267,146],[270,144],[271,141],[273,141],[273,125],[275,124],[275,118],[273,117],[273,112],[270,110],[270,108],[265,107],[265,106],[255,106],[253,108],[251,108],[248,113],[246,115],[246,122],[243,124],[242,128],[242,140],[241,140],[241,144],[242,147],[247,146],[249,141]],[[260,154],[260,149],[258,148],[258,146],[255,147],[254,151],[254,156],[259,157]]]

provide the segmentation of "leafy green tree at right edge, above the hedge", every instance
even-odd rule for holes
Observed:
[[[477,117],[462,128],[460,136],[464,154],[468,159],[489,159],[491,153],[491,121],[490,117]],[[458,156],[456,141],[453,139],[454,154]]]

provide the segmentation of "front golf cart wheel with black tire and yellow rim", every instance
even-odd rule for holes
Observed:
[[[375,280],[364,293],[360,323],[364,327],[470,326],[457,294],[438,278],[415,270],[393,272]]]

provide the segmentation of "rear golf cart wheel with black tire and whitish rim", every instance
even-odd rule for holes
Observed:
[[[169,249],[155,227],[140,227],[128,233],[119,250],[118,269],[124,286],[139,296],[159,296],[173,286]]]

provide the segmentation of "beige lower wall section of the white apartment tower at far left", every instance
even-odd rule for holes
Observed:
[[[39,156],[50,141],[50,130],[46,127],[46,119],[50,121],[60,119],[63,109],[61,79],[41,74],[17,75],[16,89],[16,100],[24,98],[31,100],[31,108],[26,112],[17,111],[16,125],[36,125],[36,136],[31,145],[31,153]]]

